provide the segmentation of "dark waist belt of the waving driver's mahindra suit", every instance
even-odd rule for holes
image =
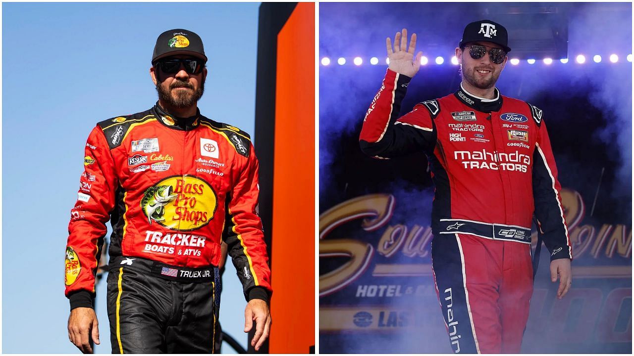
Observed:
[[[439,234],[469,234],[485,239],[531,243],[531,229],[522,226],[490,224],[473,220],[440,219]]]

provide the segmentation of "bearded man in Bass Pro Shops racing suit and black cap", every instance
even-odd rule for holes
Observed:
[[[157,105],[103,120],[89,134],[65,279],[69,338],[82,352],[92,352],[87,335],[99,343],[92,297],[108,219],[113,353],[214,351],[223,241],[249,301],[245,329],[257,322],[251,344],[258,349],[268,337],[258,162],[248,134],[200,115],[205,61],[198,35],[164,32],[151,69]]]

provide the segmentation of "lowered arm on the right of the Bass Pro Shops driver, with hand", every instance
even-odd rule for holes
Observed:
[[[249,301],[245,308],[245,333],[256,322],[256,333],[251,341],[256,350],[269,336],[271,314],[268,302],[272,293],[262,222],[257,215],[258,196],[258,162],[250,144],[249,156],[245,158],[227,199],[223,240],[228,245],[228,253]]]

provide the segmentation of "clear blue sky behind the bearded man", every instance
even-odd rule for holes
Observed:
[[[259,3],[2,4],[3,353],[80,353],[68,341],[63,270],[84,145],[97,122],[155,103],[148,70],[161,32],[202,37],[209,75],[200,111],[254,134],[258,10]],[[221,324],[246,346],[246,302],[230,262],[223,282]],[[95,351],[110,353],[105,278],[97,288]]]

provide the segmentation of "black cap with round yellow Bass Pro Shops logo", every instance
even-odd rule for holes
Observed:
[[[163,32],[157,39],[152,54],[152,63],[167,56],[176,54],[190,54],[202,58],[207,63],[205,49],[202,46],[200,36],[190,30],[174,29]]]

